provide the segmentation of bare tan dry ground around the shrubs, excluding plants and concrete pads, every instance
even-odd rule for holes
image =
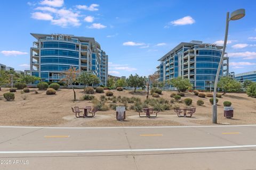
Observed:
[[[179,121],[174,120],[132,120],[129,118],[131,115],[138,115],[137,112],[127,111],[126,121],[119,122],[115,120],[115,111],[110,110],[107,112],[98,112],[98,115],[109,115],[110,118],[104,120],[93,120],[89,122],[82,122],[76,124],[76,121],[64,120],[62,117],[73,115],[71,108],[73,106],[92,106],[91,101],[80,100],[84,95],[83,90],[76,90],[78,101],[73,101],[73,91],[70,89],[57,90],[56,95],[46,95],[45,90],[37,90],[38,94],[34,94],[36,89],[30,89],[27,95],[27,99],[22,99],[21,90],[15,92],[14,101],[5,101],[3,99],[3,93],[9,91],[9,88],[2,88],[0,91],[0,125],[30,125],[30,126],[143,126],[143,125],[186,125],[189,121],[195,124],[211,124],[212,105],[209,102],[209,97],[199,98],[190,92],[185,93],[185,98],[192,98],[192,107],[196,107],[195,117],[204,117],[204,120],[189,119],[181,117]],[[105,90],[106,92],[107,90]],[[139,97],[141,100],[146,99],[146,91],[138,91],[134,94],[133,91],[116,91],[114,96],[126,96],[126,97]],[[163,95],[160,97],[170,100],[171,92],[163,91]],[[102,94],[94,94],[96,98]],[[151,98],[151,95],[150,95]],[[203,100],[204,106],[197,106],[197,100]],[[234,110],[234,118],[227,119],[223,117],[223,101],[231,101]],[[110,101],[107,101],[110,102]],[[255,124],[256,123],[256,99],[247,97],[246,94],[226,94],[222,98],[219,98],[218,103],[218,122],[230,123],[230,124]],[[176,104],[176,103],[175,103]],[[130,105],[130,104],[129,104]],[[181,107],[185,107],[182,103],[178,104]],[[159,113],[160,115],[175,114],[173,111],[165,111]],[[182,123],[182,120],[183,123]],[[79,118],[79,121],[83,121]]]

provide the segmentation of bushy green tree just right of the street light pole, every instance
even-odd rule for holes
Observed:
[[[218,87],[223,90],[223,95],[227,92],[240,91],[242,88],[241,83],[231,77],[221,77]]]

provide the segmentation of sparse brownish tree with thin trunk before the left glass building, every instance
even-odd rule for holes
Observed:
[[[76,92],[74,90],[73,83],[76,82],[78,73],[79,71],[76,70],[76,67],[70,67],[67,71],[65,71],[64,78],[61,79],[61,81],[66,82],[66,84],[72,86],[72,89],[74,91],[74,101],[76,100]]]

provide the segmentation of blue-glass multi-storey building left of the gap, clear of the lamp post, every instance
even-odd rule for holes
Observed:
[[[37,39],[30,48],[30,74],[43,81],[58,82],[70,67],[91,72],[107,86],[108,55],[90,37],[31,33]]]

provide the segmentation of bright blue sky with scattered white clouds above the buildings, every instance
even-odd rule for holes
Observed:
[[[256,1],[16,0],[1,1],[0,63],[29,70],[33,33],[94,37],[109,56],[109,74],[149,75],[181,42],[223,44],[226,13],[245,8],[229,22],[229,70],[256,70]]]

